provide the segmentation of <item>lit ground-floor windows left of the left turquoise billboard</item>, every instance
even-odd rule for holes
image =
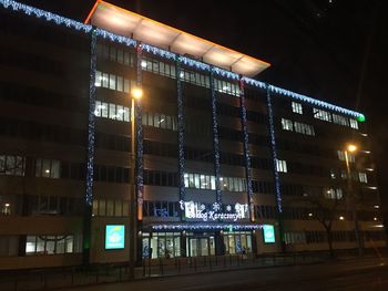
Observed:
[[[82,252],[81,236],[27,236],[27,254],[60,254]]]

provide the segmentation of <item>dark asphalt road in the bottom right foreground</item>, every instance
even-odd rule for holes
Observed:
[[[388,262],[387,259],[386,262]],[[388,290],[388,264],[386,262],[378,259],[358,259],[310,266],[153,278],[135,282],[78,287],[64,290]]]

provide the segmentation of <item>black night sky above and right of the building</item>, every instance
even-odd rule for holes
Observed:
[[[20,0],[84,21],[93,0]],[[384,0],[109,0],[272,64],[257,79],[366,115],[388,196]],[[388,197],[386,198],[388,200]]]

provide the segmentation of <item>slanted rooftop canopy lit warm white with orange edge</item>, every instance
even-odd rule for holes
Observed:
[[[255,76],[270,65],[105,1],[96,1],[85,20],[85,23],[89,22],[113,33],[192,56],[245,76]]]

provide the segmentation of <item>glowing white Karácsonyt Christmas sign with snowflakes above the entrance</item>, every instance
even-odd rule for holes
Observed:
[[[212,209],[206,209],[204,204],[194,201],[180,201],[181,209],[184,211],[186,218],[202,219],[203,221],[215,221],[215,220],[233,220],[248,218],[248,205],[247,204],[235,204],[234,206],[227,205],[225,212],[221,207],[221,204],[214,202]]]

